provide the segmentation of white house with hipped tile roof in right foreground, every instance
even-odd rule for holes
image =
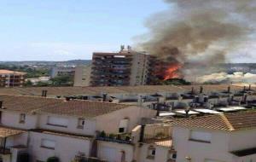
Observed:
[[[256,112],[177,120],[172,143],[177,162],[256,161]]]

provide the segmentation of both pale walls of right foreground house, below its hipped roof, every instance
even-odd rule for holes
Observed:
[[[200,129],[194,129],[200,130]],[[256,160],[255,154],[247,157],[236,157],[230,153],[236,150],[255,148],[256,130],[221,131],[201,130],[212,133],[212,142],[189,141],[190,130],[177,127],[173,129],[173,145],[177,151],[177,162],[185,161],[185,157],[191,157],[192,161],[204,162],[205,159],[215,159],[224,162],[242,162]]]

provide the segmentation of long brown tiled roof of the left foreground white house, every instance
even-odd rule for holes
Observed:
[[[0,101],[3,101],[2,111],[51,113],[81,118],[94,118],[125,107],[130,107],[124,104],[102,101],[65,101],[62,99],[22,95],[0,95]]]

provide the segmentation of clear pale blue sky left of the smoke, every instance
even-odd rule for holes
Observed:
[[[167,7],[162,0],[0,0],[0,61],[90,59],[93,51],[118,50]]]

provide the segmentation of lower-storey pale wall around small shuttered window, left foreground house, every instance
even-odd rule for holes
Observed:
[[[55,149],[41,148],[42,139],[55,141]],[[32,162],[36,160],[46,161],[52,156],[60,158],[61,162],[71,162],[78,153],[85,153],[88,156],[90,143],[89,140],[31,132],[29,152],[32,155]]]

